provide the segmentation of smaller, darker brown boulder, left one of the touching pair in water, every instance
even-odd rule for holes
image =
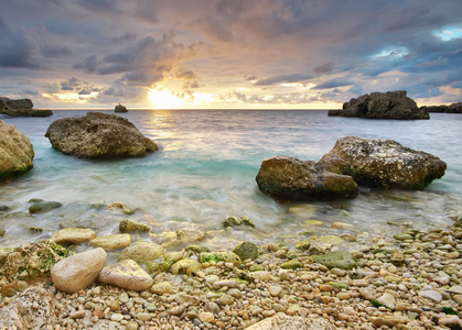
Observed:
[[[256,180],[261,193],[282,202],[333,200],[358,194],[351,176],[326,170],[320,163],[289,156],[262,161]]]

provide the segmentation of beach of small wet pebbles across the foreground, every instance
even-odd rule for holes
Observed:
[[[238,246],[222,254],[201,245],[176,248],[144,263],[152,278],[144,289],[99,280],[67,294],[50,277],[29,284],[2,277],[0,326],[290,329],[316,322],[311,329],[460,329],[462,221],[454,220],[451,228],[431,231],[401,224],[393,239],[368,238],[359,250],[348,248],[355,238],[337,237],[312,237],[297,246],[248,242],[255,254],[237,260],[224,255],[240,254]]]

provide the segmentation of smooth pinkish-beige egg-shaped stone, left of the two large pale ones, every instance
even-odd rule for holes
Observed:
[[[101,248],[63,258],[52,267],[53,284],[60,290],[68,294],[86,289],[98,277],[106,260],[107,253]]]

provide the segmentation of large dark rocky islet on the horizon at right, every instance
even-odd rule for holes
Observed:
[[[418,108],[406,90],[372,92],[343,103],[343,110],[330,110],[329,116],[365,117],[370,119],[429,119],[428,111]]]

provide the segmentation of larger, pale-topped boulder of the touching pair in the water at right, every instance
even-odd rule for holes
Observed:
[[[444,175],[447,164],[440,158],[402,146],[393,140],[346,136],[319,163],[341,158],[339,173],[351,175],[358,185],[387,189],[422,189]]]

